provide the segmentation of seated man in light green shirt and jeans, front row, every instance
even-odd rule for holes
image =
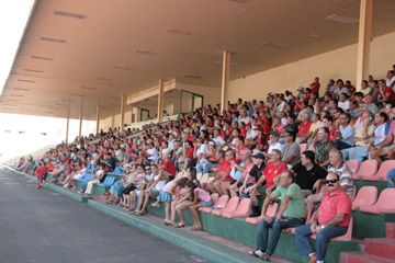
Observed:
[[[266,210],[271,202],[280,201],[281,205],[276,215],[266,217]],[[263,218],[258,227],[257,250],[250,251],[251,255],[270,261],[279,242],[281,231],[285,228],[294,228],[303,225],[306,220],[306,207],[301,187],[293,182],[291,172],[280,174],[279,186],[268,195],[262,207]],[[269,228],[272,232],[268,240]]]

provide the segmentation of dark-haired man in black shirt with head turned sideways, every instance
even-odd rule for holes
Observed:
[[[305,196],[311,195],[316,182],[325,179],[328,173],[315,163],[315,159],[314,152],[306,150],[301,156],[301,163],[292,168],[295,173],[295,183],[302,188]]]

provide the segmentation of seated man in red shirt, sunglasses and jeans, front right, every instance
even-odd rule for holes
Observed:
[[[347,232],[351,218],[351,198],[345,193],[339,183],[339,175],[328,173],[326,185],[328,187],[318,211],[311,224],[297,227],[295,231],[296,245],[301,254],[308,255],[309,262],[323,263],[325,261],[328,241]],[[314,252],[309,236],[317,235],[316,251]]]

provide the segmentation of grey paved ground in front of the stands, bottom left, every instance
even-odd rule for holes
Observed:
[[[205,262],[0,169],[0,263]]]

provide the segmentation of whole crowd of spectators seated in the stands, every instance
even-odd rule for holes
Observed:
[[[326,242],[350,221],[356,188],[346,161],[395,157],[394,70],[395,65],[385,79],[370,76],[358,89],[341,79],[321,87],[315,78],[296,93],[238,99],[224,112],[207,105],[143,130],[101,132],[63,142],[40,160],[22,158],[18,169],[35,171],[37,178],[50,174],[69,188],[89,172],[93,176],[80,193],[90,195],[94,184],[120,168],[123,179],[106,193],[108,203],[135,215],[146,214],[150,203],[163,205],[165,224],[174,227],[185,226],[182,210],[190,209],[192,230],[202,230],[198,210],[214,205],[212,193],[250,198],[250,216],[264,215],[270,203],[281,199],[276,217],[263,217],[251,254],[269,260],[280,230],[301,226],[301,253],[323,262]],[[388,185],[394,182],[395,170]],[[313,221],[303,226],[309,217]],[[276,229],[269,242],[268,228]],[[312,233],[317,235],[317,254],[306,244]]]

